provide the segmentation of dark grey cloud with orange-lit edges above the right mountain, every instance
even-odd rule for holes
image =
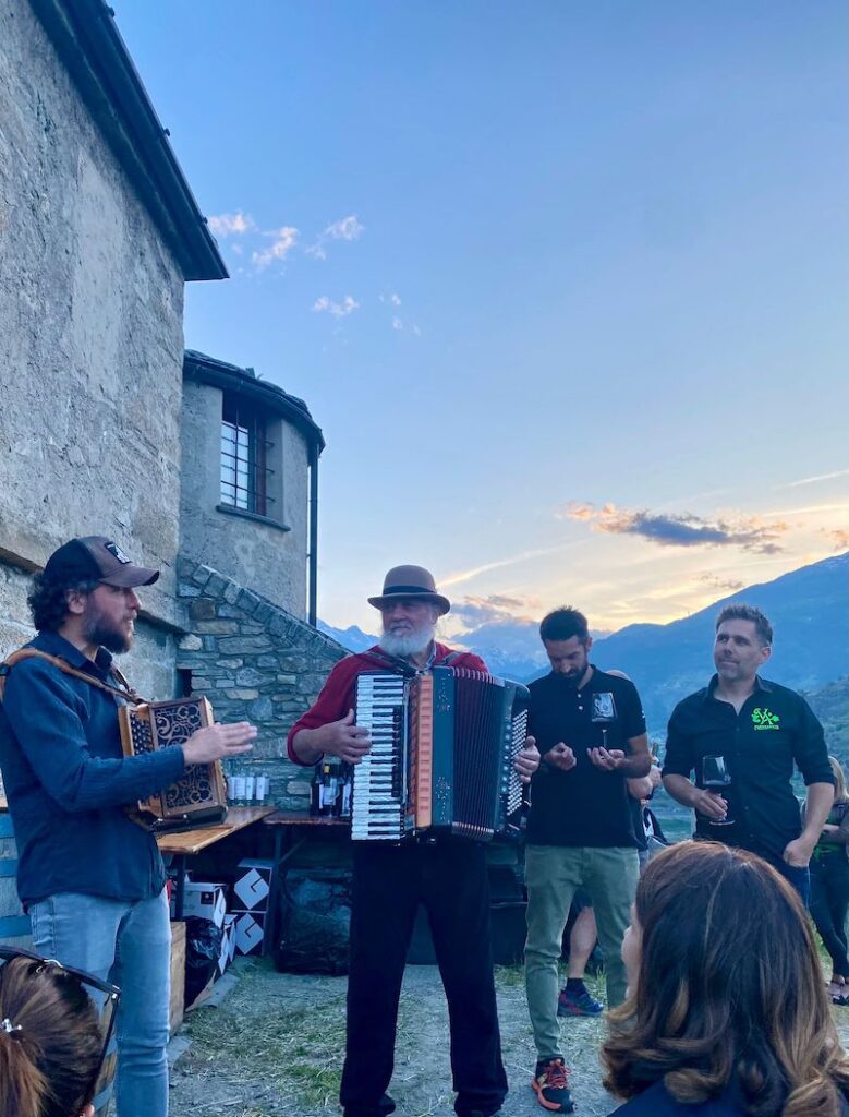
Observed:
[[[594,532],[639,535],[659,546],[736,546],[768,555],[783,550],[776,540],[788,531],[788,524],[781,521],[765,523],[759,516],[705,519],[688,512],[664,515],[646,508],[618,508],[614,504],[599,508],[578,500],[570,500],[558,515],[563,519],[589,523]]]

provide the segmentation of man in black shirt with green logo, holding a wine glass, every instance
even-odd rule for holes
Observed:
[[[726,605],[716,618],[707,686],[679,701],[669,719],[664,786],[696,812],[695,837],[760,853],[808,901],[808,862],[834,798],[822,726],[808,703],[758,675],[772,652],[760,609]],[[730,783],[705,786],[721,757]],[[793,766],[808,787],[805,822],[793,794]],[[691,773],[695,772],[695,784]]]

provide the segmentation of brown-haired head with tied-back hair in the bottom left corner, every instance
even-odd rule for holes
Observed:
[[[32,958],[0,968],[0,1117],[78,1117],[102,1050],[97,1013],[76,980]]]

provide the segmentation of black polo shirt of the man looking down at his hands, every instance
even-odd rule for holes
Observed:
[[[543,760],[531,782],[531,846],[625,846],[636,849],[634,814],[625,776],[602,772],[587,756],[605,746],[629,752],[628,739],[646,732],[637,688],[629,679],[592,668],[581,689],[552,671],[530,684],[528,732],[544,756],[559,742],[577,764],[561,772]]]

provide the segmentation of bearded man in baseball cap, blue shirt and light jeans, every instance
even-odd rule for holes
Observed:
[[[123,755],[116,691],[126,684],[113,655],[133,642],[136,590],[158,576],[104,536],[71,540],[29,595],[38,636],[27,649],[54,661],[33,656],[0,667],[0,766],[18,892],[39,953],[122,989],[118,1117],[165,1117],[168,1107],[165,870],[153,834],[124,806],[175,783],[186,764],[248,751],[257,735],[245,722],[213,725],[181,746]]]

